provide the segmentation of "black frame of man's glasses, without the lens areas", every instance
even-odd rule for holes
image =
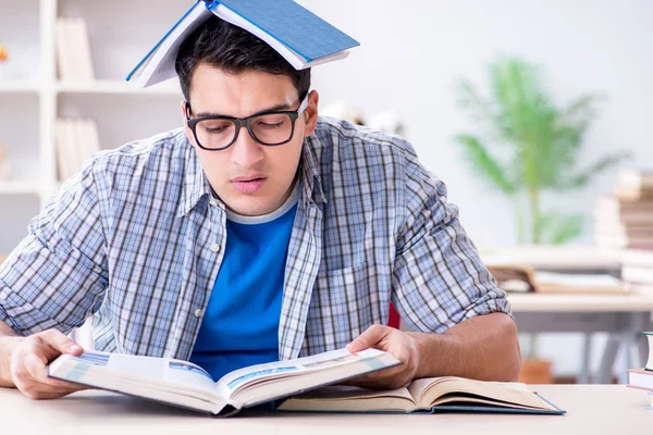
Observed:
[[[238,135],[241,134],[241,130],[243,129],[243,127],[247,128],[249,136],[257,144],[260,144],[266,147],[278,147],[280,145],[284,145],[284,144],[287,144],[291,140],[293,140],[293,136],[295,136],[295,122],[297,121],[297,117],[299,117],[299,115],[303,114],[306,111],[306,108],[308,107],[308,94],[309,92],[306,92],[306,96],[301,100],[301,103],[299,104],[297,110],[270,110],[270,111],[257,113],[257,114],[254,114],[254,115],[247,116],[247,117],[235,117],[235,116],[190,117],[190,112],[192,112],[190,103],[188,101],[186,101],[186,123],[188,124],[188,128],[190,128],[190,130],[193,132],[193,136],[195,137],[195,142],[197,144],[197,146],[207,151],[222,151],[222,150],[227,149],[229,147],[234,145],[234,142],[236,140],[238,140]],[[284,140],[279,144],[266,144],[266,142],[262,142],[261,140],[259,140],[256,137],[256,135],[254,134],[254,130],[251,128],[251,121],[259,116],[273,115],[273,114],[285,114],[291,117],[291,136],[287,138],[287,140]],[[202,121],[212,121],[212,120],[231,121],[236,125],[236,133],[234,134],[234,138],[232,139],[231,142],[229,142],[229,145],[225,145],[224,147],[221,147],[221,148],[207,148],[207,147],[202,146],[201,142],[199,141],[199,138],[197,137],[197,128],[196,128],[197,124],[199,124]]]

